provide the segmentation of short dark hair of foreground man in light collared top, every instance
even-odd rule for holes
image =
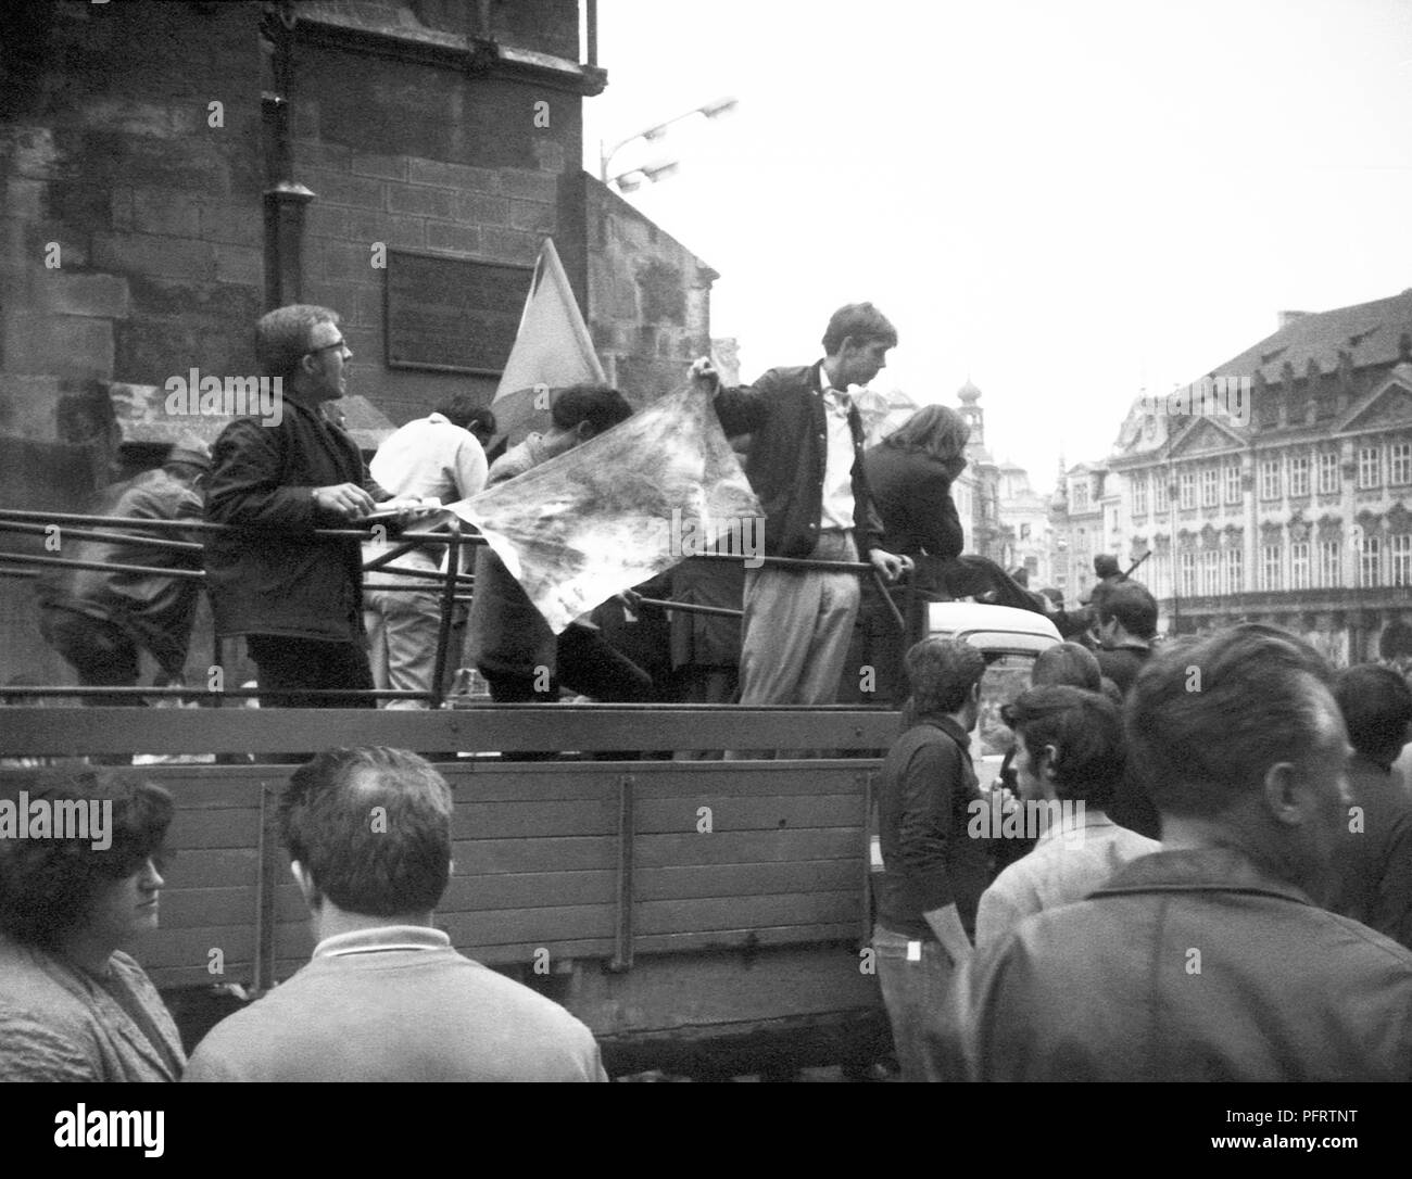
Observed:
[[[436,908],[450,875],[450,788],[431,762],[374,746],[329,750],[294,771],[280,839],[346,912]]]

